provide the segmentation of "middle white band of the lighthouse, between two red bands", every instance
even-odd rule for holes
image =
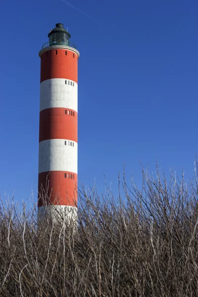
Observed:
[[[40,142],[39,173],[45,171],[68,171],[77,174],[78,144],[64,139],[49,139]]]

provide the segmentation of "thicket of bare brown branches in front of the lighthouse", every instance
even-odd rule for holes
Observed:
[[[77,229],[1,203],[0,296],[198,296],[197,176],[168,180],[143,170],[118,198],[82,188]]]

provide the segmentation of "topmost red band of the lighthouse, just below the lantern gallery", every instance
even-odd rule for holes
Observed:
[[[51,78],[65,78],[78,82],[78,56],[70,50],[66,51],[67,54],[65,49],[49,49],[42,53],[41,83]]]

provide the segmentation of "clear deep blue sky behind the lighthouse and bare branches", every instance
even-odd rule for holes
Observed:
[[[40,58],[50,28],[80,51],[79,185],[117,190],[140,160],[193,176],[198,152],[197,0],[10,0],[1,5],[0,195],[37,196]],[[87,15],[86,15],[87,14]],[[89,17],[89,16],[90,17]],[[36,198],[35,198],[36,199]]]

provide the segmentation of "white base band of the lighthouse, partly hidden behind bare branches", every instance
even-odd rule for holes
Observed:
[[[67,205],[48,205],[38,207],[39,220],[51,217],[55,222],[75,223],[77,224],[77,207]]]

